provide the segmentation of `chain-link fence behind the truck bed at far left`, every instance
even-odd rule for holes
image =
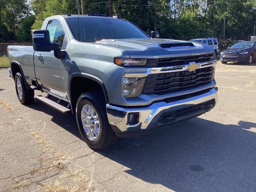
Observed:
[[[7,47],[9,45],[32,46],[31,42],[0,42],[0,68],[9,66]]]

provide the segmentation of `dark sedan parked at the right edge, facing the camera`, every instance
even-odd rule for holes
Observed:
[[[220,53],[220,60],[222,63],[227,62],[246,62],[252,64],[256,58],[256,42],[243,41],[234,44],[230,48]]]

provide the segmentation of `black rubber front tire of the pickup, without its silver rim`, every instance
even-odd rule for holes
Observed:
[[[95,109],[95,112],[97,112],[98,114],[98,120],[100,122],[100,132],[95,139],[91,139],[86,134],[82,125],[81,112],[82,108],[86,104],[91,105]],[[76,121],[83,140],[91,148],[94,148],[96,150],[102,150],[112,145],[117,140],[117,137],[108,122],[106,101],[104,99],[104,94],[101,91],[86,92],[78,98],[76,104]]]

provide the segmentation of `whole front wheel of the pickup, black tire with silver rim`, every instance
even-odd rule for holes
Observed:
[[[104,94],[100,91],[86,92],[78,98],[76,121],[83,140],[91,148],[102,150],[117,139],[108,122]]]

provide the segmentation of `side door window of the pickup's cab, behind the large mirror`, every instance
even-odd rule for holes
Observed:
[[[62,49],[65,49],[67,41],[61,23],[58,20],[50,20],[46,29],[49,30],[50,33],[50,42],[59,43]]]

